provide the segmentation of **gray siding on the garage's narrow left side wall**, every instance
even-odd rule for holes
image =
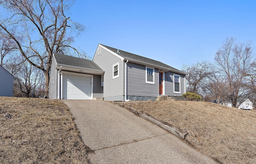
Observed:
[[[56,61],[54,57],[52,58],[52,66],[50,72],[50,80],[49,80],[49,99],[57,99],[57,73],[58,70],[55,69],[57,67]]]

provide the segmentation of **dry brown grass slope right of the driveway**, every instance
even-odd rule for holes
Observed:
[[[256,163],[256,112],[194,101],[135,101],[125,105],[188,132],[185,140],[217,162]]]

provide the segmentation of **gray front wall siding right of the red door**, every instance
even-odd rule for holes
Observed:
[[[179,75],[177,73],[174,73]],[[165,87],[165,95],[171,96],[182,96],[185,93],[185,76],[180,75],[180,93],[174,93],[174,79],[172,72],[164,73],[164,87]]]

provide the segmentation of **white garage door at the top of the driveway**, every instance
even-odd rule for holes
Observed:
[[[63,74],[63,99],[92,99],[91,78],[92,76]]]

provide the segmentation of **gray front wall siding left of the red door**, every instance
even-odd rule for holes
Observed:
[[[154,69],[154,84],[146,83],[146,66],[135,63],[127,64],[127,95],[157,97],[159,95],[159,74]]]

